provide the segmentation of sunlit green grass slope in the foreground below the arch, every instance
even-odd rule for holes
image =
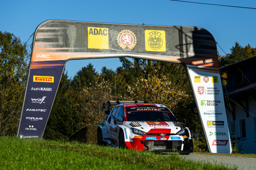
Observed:
[[[185,161],[179,155],[115,149],[53,140],[0,137],[1,170],[121,170],[181,169],[226,170],[225,166]]]

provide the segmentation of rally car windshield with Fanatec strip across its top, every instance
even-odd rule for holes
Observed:
[[[127,121],[175,122],[166,107],[126,107]]]

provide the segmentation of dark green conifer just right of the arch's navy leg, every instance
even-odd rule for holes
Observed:
[[[75,93],[67,79],[67,72],[64,72],[45,128],[43,137],[46,139],[68,140],[72,133],[82,127],[82,114],[76,111]]]

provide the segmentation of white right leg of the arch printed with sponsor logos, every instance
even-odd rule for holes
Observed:
[[[212,153],[231,153],[220,74],[203,72],[202,69],[203,67],[188,66],[207,146]]]

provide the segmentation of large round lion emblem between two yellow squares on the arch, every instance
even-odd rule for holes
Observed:
[[[122,30],[117,35],[117,43],[123,50],[131,51],[137,43],[136,35],[130,30]]]

